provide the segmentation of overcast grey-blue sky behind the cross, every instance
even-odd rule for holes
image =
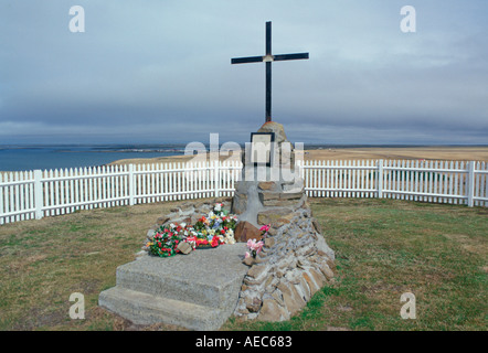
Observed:
[[[85,32],[70,31],[72,6]],[[400,13],[416,10],[416,32]],[[1,143],[488,143],[486,0],[1,0]],[[79,23],[78,23],[79,24]]]

